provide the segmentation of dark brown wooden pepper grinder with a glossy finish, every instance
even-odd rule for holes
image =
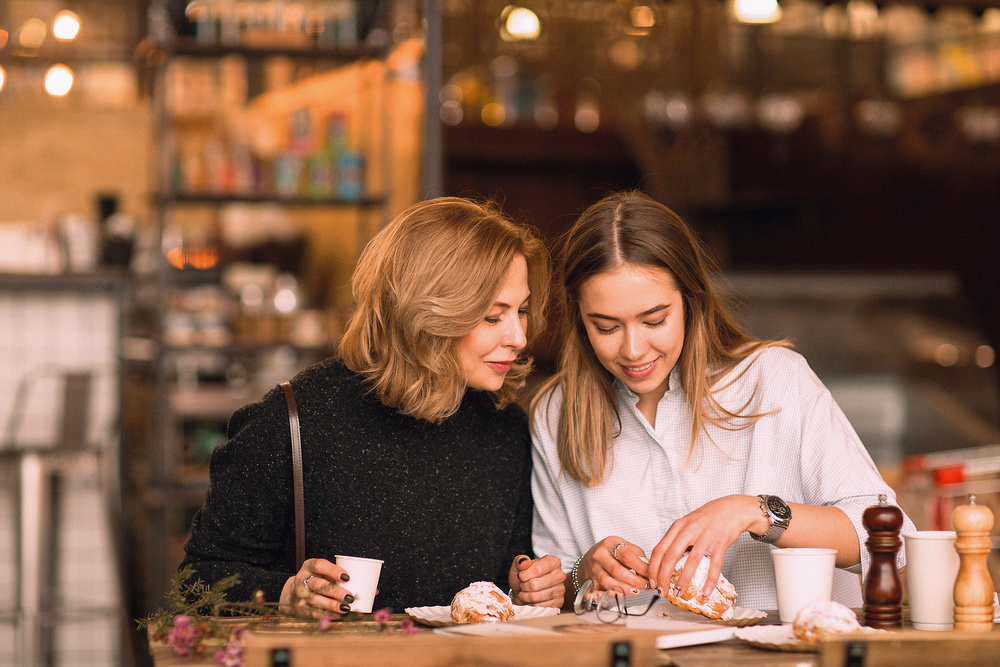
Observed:
[[[872,505],[861,516],[868,531],[868,553],[872,563],[865,580],[865,625],[879,630],[903,627],[903,584],[896,568],[896,555],[903,545],[899,529],[903,527],[903,511],[886,502],[880,493],[878,505]]]

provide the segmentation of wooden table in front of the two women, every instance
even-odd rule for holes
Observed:
[[[769,614],[765,622],[773,622]],[[995,667],[1000,664],[1000,631],[987,633],[922,632],[905,628],[878,634],[840,635],[824,641],[815,652],[785,652],[756,648],[739,639],[714,644],[657,650],[655,630],[632,630],[624,626],[592,625],[593,631],[564,631],[558,636],[446,636],[420,627],[414,635],[397,630],[405,616],[393,616],[388,624],[370,620],[334,623],[320,633],[313,623],[282,619],[259,624],[244,641],[246,667],[272,667],[275,649],[290,649],[290,667],[337,667],[375,665],[437,667],[608,667],[616,644],[627,643],[628,662],[620,665],[662,667],[708,667],[752,665],[758,667],[895,667],[940,665],[942,667]],[[565,612],[550,619],[523,621],[542,628],[561,623],[581,627]],[[228,624],[239,621],[227,620]],[[253,624],[254,622],[251,622]],[[584,628],[581,628],[584,629]],[[215,665],[214,653],[224,642],[213,640],[198,660],[174,655],[162,643],[150,650],[156,667]],[[850,652],[856,657],[848,659]]]

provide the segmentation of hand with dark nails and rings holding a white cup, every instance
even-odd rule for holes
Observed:
[[[285,582],[278,609],[291,616],[340,618],[354,602],[354,596],[343,586],[350,580],[339,565],[325,558],[310,558]]]

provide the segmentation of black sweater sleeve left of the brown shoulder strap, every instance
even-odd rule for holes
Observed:
[[[238,574],[230,601],[263,590],[266,600],[277,602],[295,573],[290,436],[280,391],[237,410],[228,436],[212,454],[211,482],[181,567],[190,565],[206,583]]]

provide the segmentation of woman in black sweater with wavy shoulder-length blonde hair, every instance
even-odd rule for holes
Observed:
[[[352,287],[339,356],[291,380],[306,561],[296,570],[288,413],[275,388],[233,415],[183,565],[206,582],[238,574],[232,600],[263,590],[307,616],[350,611],[335,554],[382,559],[375,604],[395,611],[449,604],[478,580],[511,589],[516,604],[562,604],[560,561],[529,558],[531,441],[512,402],[544,321],[543,245],[490,206],[426,201],[372,240]]]

